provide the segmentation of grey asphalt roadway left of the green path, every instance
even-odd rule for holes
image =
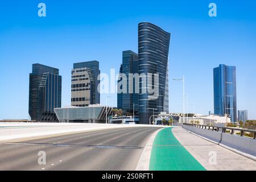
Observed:
[[[150,135],[159,128],[151,127],[136,127],[131,130],[121,131],[113,130],[108,132],[108,135],[102,131],[94,131],[91,134],[101,133],[104,135],[103,140],[101,135],[98,140],[94,137],[88,137],[85,140],[79,138],[81,134],[73,134],[65,136],[64,139],[71,139],[73,144],[86,144],[89,138],[93,139],[95,146],[100,143],[112,144],[112,146],[144,146]],[[114,136],[113,133],[116,135]],[[88,133],[84,133],[88,134]],[[61,136],[63,137],[63,136]],[[114,139],[114,138],[115,139]],[[49,138],[47,138],[49,139]],[[56,141],[56,138],[52,138]],[[61,138],[63,139],[63,138]],[[57,137],[57,140],[60,140]],[[52,141],[52,142],[53,142]],[[46,142],[43,140],[32,140],[29,142]],[[28,143],[29,143],[28,142]],[[49,140],[51,142],[51,140]],[[55,142],[53,142],[55,143]],[[101,146],[101,145],[99,145]],[[0,159],[0,169],[4,170],[133,170],[135,169],[139,157],[141,156],[141,149],[129,148],[94,148],[94,147],[74,147],[74,146],[12,146],[12,150],[7,154],[3,154]],[[23,147],[20,151],[19,148]],[[2,146],[1,146],[2,148]],[[39,165],[37,155],[39,151],[45,151],[47,154],[47,164]]]

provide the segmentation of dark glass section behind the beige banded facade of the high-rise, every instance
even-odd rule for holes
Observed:
[[[98,80],[98,75],[100,75],[100,63],[98,61],[86,61],[82,63],[74,63],[73,69],[77,68],[89,68],[92,73],[93,83],[90,85],[92,92],[92,104],[100,104],[100,92],[98,92],[98,86],[100,86],[100,80]],[[100,87],[99,87],[100,88]]]

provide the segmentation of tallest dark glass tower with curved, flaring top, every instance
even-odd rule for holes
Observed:
[[[148,124],[150,117],[162,111],[168,113],[168,54],[171,34],[152,23],[142,22],[138,27],[138,72],[159,74],[158,98],[149,99],[151,94],[139,94],[139,123]],[[153,80],[154,85],[155,81]],[[148,85],[147,85],[148,87]],[[152,121],[152,119],[151,119]]]

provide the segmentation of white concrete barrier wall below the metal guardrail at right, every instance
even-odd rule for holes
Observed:
[[[224,144],[225,146],[234,148],[238,151],[245,152],[256,156],[256,140],[246,137],[240,137],[238,135],[231,135],[222,133],[220,131],[212,131],[208,129],[200,129],[193,126],[183,125],[183,128],[200,135],[201,137],[208,138],[214,142]]]

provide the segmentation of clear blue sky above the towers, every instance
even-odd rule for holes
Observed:
[[[38,3],[47,17],[38,17]],[[208,16],[210,2],[217,17]],[[189,111],[213,111],[213,68],[237,67],[238,109],[256,119],[256,1],[0,1],[0,119],[28,118],[33,63],[60,69],[62,106],[70,105],[72,64],[100,61],[101,72],[119,71],[122,51],[138,52],[138,23],[171,32],[170,111],[181,112],[185,75]],[[117,105],[117,97],[108,103]],[[101,104],[105,104],[105,94]]]

